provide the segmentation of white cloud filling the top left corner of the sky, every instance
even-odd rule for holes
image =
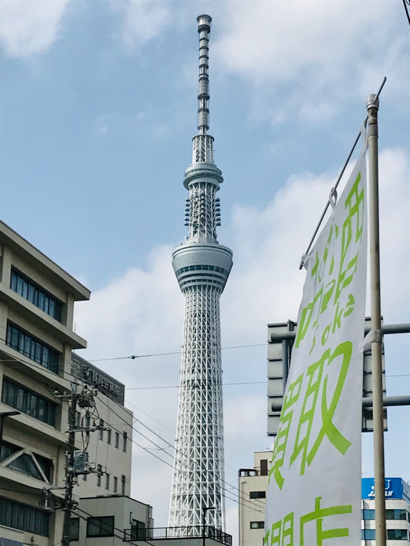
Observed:
[[[0,0],[0,42],[10,57],[45,52],[61,35],[70,0]]]

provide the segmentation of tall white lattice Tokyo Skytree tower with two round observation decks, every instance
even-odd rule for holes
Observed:
[[[232,268],[232,251],[219,245],[222,173],[214,163],[208,123],[209,15],[197,17],[200,39],[198,131],[185,171],[188,239],[172,265],[185,296],[183,355],[169,526],[207,525],[224,530],[224,429],[222,418],[219,298]],[[203,508],[208,508],[203,511]],[[210,509],[212,508],[212,509]]]

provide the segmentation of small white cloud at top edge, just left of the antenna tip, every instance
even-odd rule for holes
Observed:
[[[128,47],[156,38],[172,22],[169,0],[109,0],[121,16],[121,39]]]

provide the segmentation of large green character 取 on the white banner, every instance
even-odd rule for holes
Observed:
[[[343,385],[350,365],[350,359],[352,358],[352,348],[352,343],[350,341],[345,341],[344,343],[338,345],[332,354],[331,349],[327,349],[321,358],[317,362],[311,364],[307,369],[309,381],[297,426],[294,451],[290,456],[290,465],[292,465],[298,456],[302,454],[300,470],[301,476],[306,470],[306,463],[308,465],[312,463],[325,436],[327,436],[328,440],[333,444],[333,446],[335,446],[335,448],[343,455],[351,445],[351,442],[349,442],[333,424],[332,419],[337,408],[337,403],[342,394]],[[327,375],[323,379],[325,364],[326,366],[330,366],[336,359],[339,358],[342,358],[339,376],[335,391],[333,392],[328,405]],[[320,414],[322,424],[319,434],[315,439],[312,448],[309,450],[308,448],[309,441],[311,439],[313,418],[315,416],[315,412],[317,411],[317,402],[320,392]]]

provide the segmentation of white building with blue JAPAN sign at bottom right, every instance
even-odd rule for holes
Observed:
[[[374,478],[362,478],[361,544],[376,544],[374,522]],[[410,483],[401,478],[386,478],[386,536],[388,546],[410,542]]]

